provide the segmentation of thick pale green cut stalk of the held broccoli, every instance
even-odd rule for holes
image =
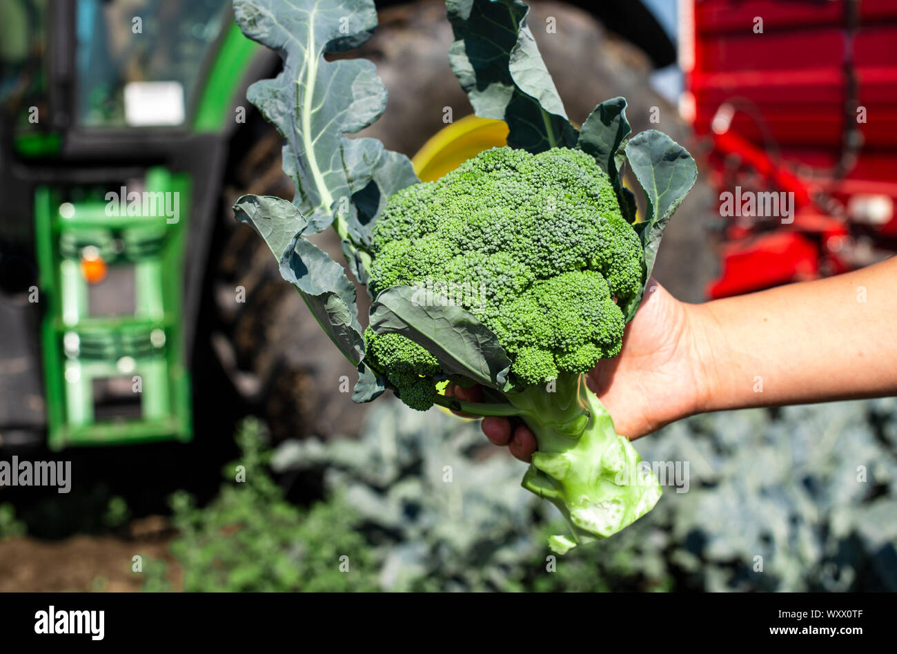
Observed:
[[[588,390],[585,375],[562,374],[555,384],[503,393],[509,403],[437,403],[478,416],[517,416],[536,435],[538,450],[522,486],[560,509],[572,532],[549,539],[563,554],[577,544],[609,535],[644,516],[660,498],[658,479],[629,439]]]

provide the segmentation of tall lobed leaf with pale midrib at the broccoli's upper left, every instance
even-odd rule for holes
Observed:
[[[404,155],[388,153],[374,138],[344,137],[369,126],[386,107],[375,66],[365,59],[324,58],[370,38],[377,25],[374,3],[234,0],[234,13],[248,38],[283,58],[283,71],[252,84],[247,97],[286,141],[283,171],[295,182],[293,203],[309,230],[319,232],[335,221],[337,233],[363,249],[370,235],[360,221],[350,225],[353,195],[371,183],[394,189],[417,181]],[[388,171],[373,179],[384,166]]]

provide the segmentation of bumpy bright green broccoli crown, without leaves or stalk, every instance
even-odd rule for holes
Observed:
[[[495,147],[439,181],[400,190],[374,226],[371,253],[375,294],[398,285],[448,292],[495,333],[523,385],[616,356],[618,305],[644,282],[639,237],[610,179],[591,155],[568,148]],[[428,408],[420,380],[438,364],[427,355],[432,366],[422,367],[426,350],[411,341],[400,348],[405,337],[393,336],[391,356],[375,347],[371,366],[406,403]]]

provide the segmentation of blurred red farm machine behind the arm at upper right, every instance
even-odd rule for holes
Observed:
[[[708,296],[897,250],[897,2],[679,6],[681,112],[719,193],[720,275]]]

